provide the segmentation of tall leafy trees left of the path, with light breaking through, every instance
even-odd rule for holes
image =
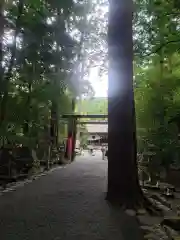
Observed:
[[[89,66],[98,61],[94,49],[104,41],[97,41],[95,31],[102,35],[105,24],[94,29],[100,5],[1,1],[1,147],[18,143],[35,149],[43,142],[44,149],[57,148],[67,137],[60,116],[73,112],[76,97],[93,95]]]

